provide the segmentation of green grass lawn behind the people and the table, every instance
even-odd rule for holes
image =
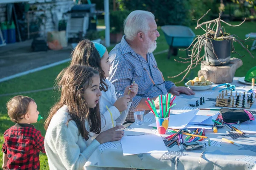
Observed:
[[[238,24],[238,22],[232,22],[231,24]],[[224,25],[223,25],[224,26]],[[230,32],[231,34],[236,34],[240,38],[244,39],[245,34],[250,32],[256,32],[256,23],[244,23],[240,27],[229,27],[225,26],[226,31]],[[195,34],[201,34],[203,33],[201,30],[195,30],[192,27]],[[157,38],[157,49],[154,53],[163,51],[168,49],[168,45],[166,43],[165,37],[163,35],[163,32],[160,30],[160,37]],[[247,44],[250,46],[252,45],[252,41],[247,42]],[[110,51],[113,47],[108,48],[108,51]],[[244,58],[242,58],[243,65],[236,71],[236,75],[238,77],[243,77],[246,72],[256,65],[256,59],[252,59],[247,52],[239,46],[239,44],[235,44],[236,51],[239,52],[241,55],[246,55]],[[254,51],[256,52],[256,50]],[[185,57],[186,52],[185,51],[179,51],[178,56]],[[256,57],[256,54],[253,54],[254,57]],[[166,80],[171,80],[173,82],[179,81],[183,76],[177,77],[176,79],[168,79],[168,76],[174,76],[176,74],[179,74],[181,71],[183,71],[186,68],[185,64],[177,63],[174,61],[177,57],[171,57],[171,59],[167,59],[167,53],[158,54],[155,55],[155,58],[157,60],[157,64],[160,68],[160,70],[163,72],[163,76]],[[237,57],[236,54],[232,54],[232,57]],[[58,66],[55,66],[53,68],[48,68],[46,70],[38,71],[32,74],[25,75],[23,77],[18,77],[6,82],[0,83],[0,95],[1,94],[9,94],[9,93],[15,93],[15,92],[23,92],[23,91],[32,91],[32,90],[38,90],[38,89],[44,89],[44,88],[50,88],[54,85],[54,80],[58,73],[65,68],[69,63],[64,63]],[[192,74],[190,76],[193,78],[197,75],[198,70],[200,69],[200,66],[192,70]],[[180,83],[178,85],[183,85],[183,83]],[[47,117],[47,114],[49,112],[49,109],[51,106],[56,102],[56,99],[58,99],[58,95],[56,91],[48,90],[48,91],[41,91],[41,92],[35,92],[30,94],[21,94],[30,96],[33,99],[35,99],[37,105],[38,105],[38,111],[40,111],[40,114],[44,119],[39,121],[35,124],[35,127],[38,130],[41,130],[42,134],[45,135],[45,130],[43,127],[43,123],[45,118]],[[9,96],[0,96],[0,144],[3,144],[3,132],[14,125],[12,123],[6,113],[6,102],[13,97],[14,95]],[[0,153],[0,160],[2,160],[2,152]],[[40,162],[41,162],[41,169],[47,170],[49,169],[47,165],[47,156],[45,154],[40,155]]]

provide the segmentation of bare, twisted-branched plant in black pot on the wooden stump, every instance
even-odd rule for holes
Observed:
[[[207,11],[207,13],[210,11],[210,9]],[[210,21],[206,21],[203,23],[199,23],[200,20],[207,15],[204,14],[200,19],[197,20],[197,26],[195,29],[203,29],[205,31],[202,35],[197,35],[195,40],[189,45],[188,48],[184,49],[187,50],[191,48],[189,51],[191,51],[191,54],[188,58],[182,58],[185,61],[175,61],[181,62],[181,63],[189,63],[189,65],[186,67],[184,71],[182,71],[180,74],[168,77],[168,78],[175,78],[180,76],[183,73],[186,73],[184,77],[176,83],[182,82],[186,76],[189,74],[189,71],[191,69],[195,68],[197,65],[200,65],[202,62],[206,61],[209,65],[227,65],[230,62],[230,53],[236,53],[241,56],[239,53],[235,51],[233,42],[239,43],[249,54],[252,58],[253,55],[250,53],[250,51],[247,49],[246,45],[243,44],[243,40],[241,40],[238,36],[235,34],[229,34],[225,31],[224,27],[221,26],[221,23],[225,23],[228,26],[233,26],[229,23],[227,23],[224,20],[221,20],[221,13],[219,13],[218,18]],[[246,18],[245,18],[246,19]],[[242,23],[245,22],[242,21],[239,25],[233,26],[241,26]],[[248,39],[248,38],[247,38]],[[247,40],[245,39],[245,40]],[[204,49],[204,55],[201,56],[201,51]],[[188,61],[190,60],[190,61]]]

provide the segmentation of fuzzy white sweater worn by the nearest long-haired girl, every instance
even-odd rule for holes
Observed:
[[[84,164],[99,147],[96,139],[90,138],[87,141],[79,133],[78,127],[70,118],[67,106],[64,105],[52,117],[47,129],[44,147],[48,157],[50,170],[82,170]],[[85,122],[86,129],[89,129],[88,122]],[[95,138],[95,133],[89,133]]]

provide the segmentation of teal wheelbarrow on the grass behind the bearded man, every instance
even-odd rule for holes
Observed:
[[[177,56],[178,48],[188,48],[195,38],[195,33],[186,26],[162,26],[161,29],[169,45],[168,59],[171,54]],[[189,49],[186,54],[189,55]]]

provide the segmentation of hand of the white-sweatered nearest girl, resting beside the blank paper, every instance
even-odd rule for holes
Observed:
[[[124,131],[118,130],[123,129],[124,126],[116,126],[109,130],[106,130],[102,133],[99,133],[99,135],[95,138],[100,144],[105,142],[112,142],[112,141],[118,141],[122,139],[124,136]],[[116,131],[117,130],[117,131]]]

